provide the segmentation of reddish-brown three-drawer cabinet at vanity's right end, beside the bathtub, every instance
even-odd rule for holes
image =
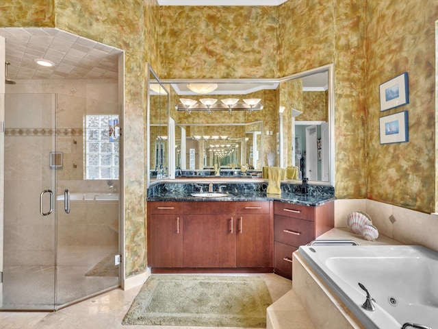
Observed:
[[[334,202],[302,206],[274,202],[274,273],[292,279],[292,254],[334,226]]]

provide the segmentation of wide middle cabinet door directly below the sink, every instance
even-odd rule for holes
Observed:
[[[184,215],[183,266],[235,267],[235,216]]]

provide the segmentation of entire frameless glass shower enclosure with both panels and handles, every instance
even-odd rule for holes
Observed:
[[[0,310],[57,310],[119,287],[119,104],[2,97]]]

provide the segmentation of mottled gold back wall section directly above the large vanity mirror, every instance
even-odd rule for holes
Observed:
[[[161,6],[161,77],[278,77],[278,10]]]

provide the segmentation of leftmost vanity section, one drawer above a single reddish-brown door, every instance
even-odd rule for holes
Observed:
[[[148,202],[149,267],[183,267],[181,202]]]

